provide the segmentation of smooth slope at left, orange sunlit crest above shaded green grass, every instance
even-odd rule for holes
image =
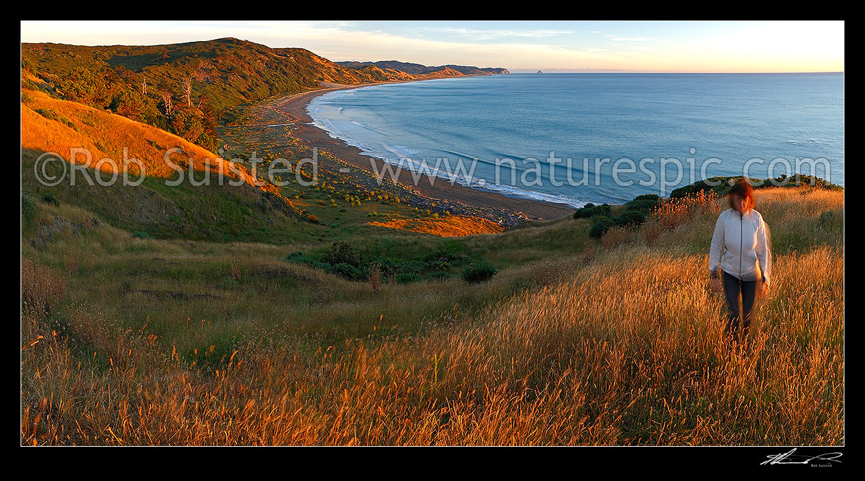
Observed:
[[[201,147],[125,117],[50,98],[42,92],[24,91],[22,96],[22,194],[28,199],[53,199],[64,205],[85,206],[102,221],[148,237],[216,241],[281,238],[285,242],[314,231],[308,215],[277,187],[253,186],[249,170],[243,165],[228,168],[225,161],[216,160]],[[74,179],[67,161],[71,160],[71,149],[76,148],[86,149],[91,159],[90,167],[75,171]],[[163,161],[166,151],[173,148],[182,153],[172,154],[170,159],[184,170],[184,181],[176,187],[166,185],[167,180],[177,179],[178,174]],[[43,154],[48,152],[61,155],[61,160],[47,161]],[[100,166],[99,179],[107,182],[112,175],[118,175],[122,180],[121,166],[127,158],[141,161],[143,183],[124,186],[117,181],[109,186],[98,185],[94,168],[103,158],[114,163]],[[86,164],[86,156],[77,155],[75,163]],[[211,185],[193,186],[189,180],[190,165],[197,180],[211,176]],[[130,163],[128,171],[130,181],[139,179],[138,164]],[[63,173],[65,180],[54,186],[46,186],[36,177]],[[222,185],[218,182],[220,175]],[[240,185],[232,185],[240,180]],[[51,222],[46,220],[48,225]],[[48,235],[45,232],[52,230],[41,225],[28,232],[35,244],[43,244]]]

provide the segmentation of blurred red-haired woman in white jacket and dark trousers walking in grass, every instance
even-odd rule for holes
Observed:
[[[756,295],[769,292],[772,244],[763,216],[754,210],[748,180],[736,182],[728,198],[730,208],[721,212],[714,225],[708,262],[712,290],[720,292],[723,285],[727,296],[726,333],[732,345],[747,338]]]

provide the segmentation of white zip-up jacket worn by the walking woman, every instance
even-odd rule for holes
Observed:
[[[749,209],[740,215],[732,208],[721,212],[708,250],[709,273],[714,274],[719,264],[740,281],[756,281],[762,275],[763,282],[769,282],[772,244],[769,228],[759,212]]]

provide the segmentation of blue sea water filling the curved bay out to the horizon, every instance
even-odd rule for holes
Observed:
[[[522,73],[329,92],[307,110],[330,136],[436,181],[581,206],[716,175],[813,168],[843,186],[843,80]]]

